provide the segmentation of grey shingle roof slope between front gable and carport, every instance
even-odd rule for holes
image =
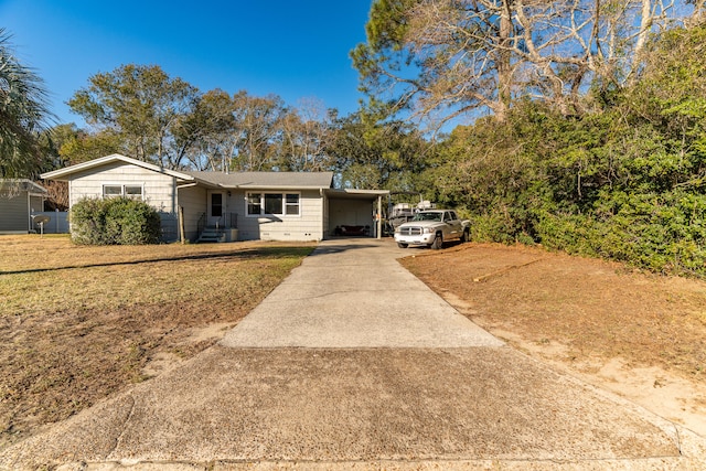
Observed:
[[[197,180],[223,188],[329,189],[333,172],[196,172],[182,171]]]

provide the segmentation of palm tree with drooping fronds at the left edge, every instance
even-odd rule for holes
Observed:
[[[32,178],[43,156],[38,138],[52,119],[44,82],[14,56],[0,28],[0,178]]]

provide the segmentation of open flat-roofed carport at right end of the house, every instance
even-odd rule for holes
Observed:
[[[383,197],[388,190],[327,190],[324,233],[381,238]],[[349,229],[350,231],[346,231]]]

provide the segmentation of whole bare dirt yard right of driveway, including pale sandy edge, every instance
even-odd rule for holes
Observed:
[[[492,244],[400,261],[509,344],[706,436],[706,282]]]

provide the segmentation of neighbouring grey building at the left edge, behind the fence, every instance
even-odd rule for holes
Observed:
[[[25,179],[0,179],[0,234],[36,229],[32,215],[44,211],[46,189]]]

